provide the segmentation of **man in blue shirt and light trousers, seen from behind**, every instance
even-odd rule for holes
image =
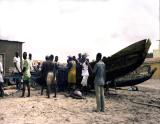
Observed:
[[[102,54],[98,53],[96,56],[97,63],[94,66],[93,73],[95,73],[94,85],[96,91],[96,112],[104,112],[104,84],[105,84],[105,64],[101,60]]]

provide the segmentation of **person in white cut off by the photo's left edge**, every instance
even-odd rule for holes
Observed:
[[[3,90],[3,66],[2,63],[0,62],[0,96],[4,96],[4,90]]]

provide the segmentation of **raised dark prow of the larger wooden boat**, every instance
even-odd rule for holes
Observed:
[[[120,50],[110,57],[104,57],[102,60],[106,65],[106,81],[113,81],[137,69],[144,62],[150,45],[151,41],[144,39]],[[92,68],[95,63],[96,62],[90,63]],[[155,71],[153,71],[153,73],[154,72]],[[93,80],[94,76],[91,75],[88,80],[89,84],[93,85]],[[127,82],[120,86],[132,85],[129,83],[130,82]]]

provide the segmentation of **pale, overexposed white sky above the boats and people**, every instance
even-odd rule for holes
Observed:
[[[0,39],[25,42],[33,59],[96,53],[110,56],[150,38],[160,39],[159,0],[0,0]]]

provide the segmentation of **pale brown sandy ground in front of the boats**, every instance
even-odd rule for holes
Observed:
[[[0,124],[159,124],[160,80],[150,79],[137,86],[139,91],[111,89],[104,113],[93,112],[94,93],[73,99],[62,92],[48,99],[40,90],[32,89],[30,98],[20,98],[21,92],[13,90],[0,98]]]

